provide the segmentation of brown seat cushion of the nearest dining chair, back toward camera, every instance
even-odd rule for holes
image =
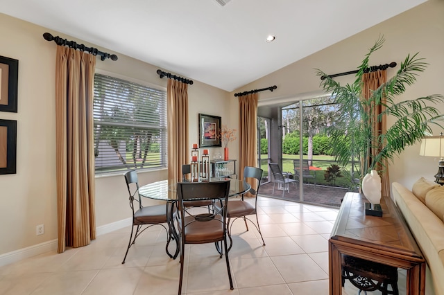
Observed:
[[[179,220],[179,223],[182,220]],[[185,242],[215,242],[223,240],[223,217],[216,215],[213,220],[196,221],[193,216],[185,216]],[[179,226],[179,229],[181,227]]]

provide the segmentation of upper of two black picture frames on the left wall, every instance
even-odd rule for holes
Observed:
[[[17,113],[19,61],[0,56],[0,111]]]

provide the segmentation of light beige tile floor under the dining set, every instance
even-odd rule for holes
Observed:
[[[234,290],[214,244],[200,244],[186,247],[182,294],[328,294],[327,240],[338,209],[266,197],[258,204],[266,246],[254,226],[246,231],[244,222],[234,222]],[[165,253],[162,227],[143,233],[122,265],[129,233],[121,229],[87,247],[0,267],[0,294],[177,294],[179,259]],[[343,294],[357,290],[346,285]]]

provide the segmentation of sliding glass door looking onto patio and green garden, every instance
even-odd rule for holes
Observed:
[[[336,116],[330,96],[282,107],[282,166],[293,170],[300,202],[340,206],[353,189],[349,167],[339,167],[330,150],[327,130]]]

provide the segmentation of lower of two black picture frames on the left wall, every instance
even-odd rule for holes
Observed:
[[[17,173],[17,121],[0,119],[0,175]]]

